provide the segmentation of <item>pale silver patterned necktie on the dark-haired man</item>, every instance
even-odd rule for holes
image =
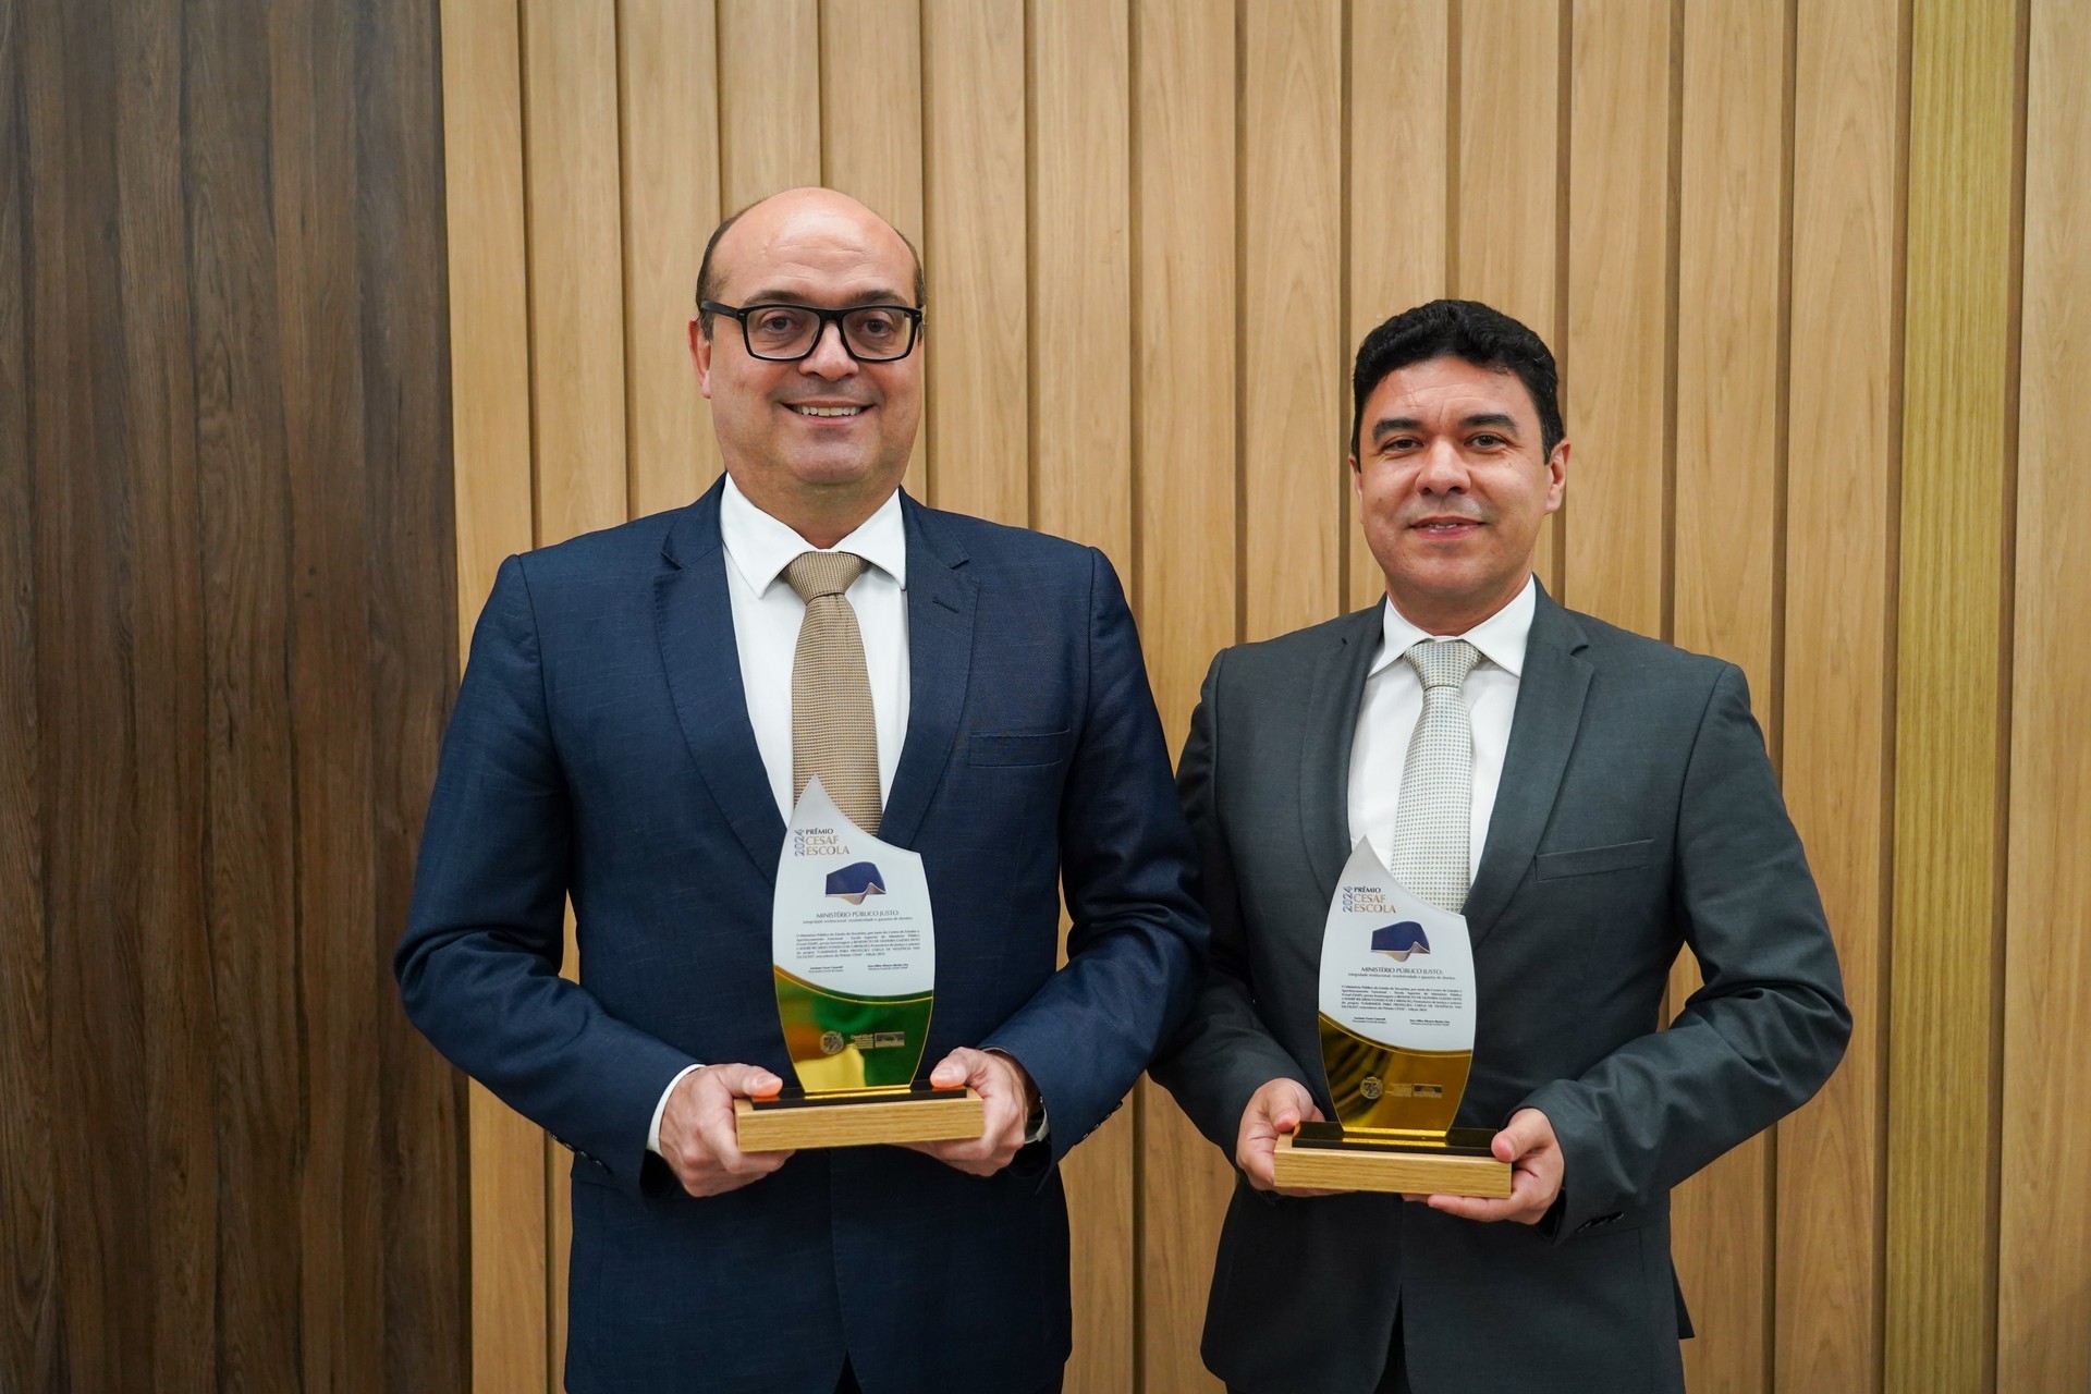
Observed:
[[[1401,660],[1424,679],[1424,715],[1401,767],[1393,872],[1422,899],[1460,913],[1474,815],[1474,721],[1460,688],[1480,650],[1466,640],[1422,640]]]

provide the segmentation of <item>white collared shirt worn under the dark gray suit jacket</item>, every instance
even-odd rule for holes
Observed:
[[[1466,640],[1480,650],[1480,663],[1466,675],[1460,694],[1474,727],[1474,809],[1468,832],[1468,876],[1480,867],[1480,849],[1489,840],[1489,817],[1495,813],[1495,788],[1503,777],[1503,752],[1510,748],[1510,717],[1518,708],[1518,679],[1524,673],[1524,648],[1533,635],[1533,614],[1539,594],[1531,579],[1510,604],[1466,633],[1424,633],[1401,617],[1393,600],[1382,602],[1380,650],[1365,675],[1365,694],[1357,706],[1357,736],[1351,742],[1351,844],[1372,838],[1372,851],[1384,863],[1395,849],[1395,809],[1401,807],[1401,773],[1407,765],[1409,736],[1424,711],[1424,683],[1401,654],[1420,640]]]

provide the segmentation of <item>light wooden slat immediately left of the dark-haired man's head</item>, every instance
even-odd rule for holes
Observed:
[[[1347,362],[1342,23],[1330,6],[1242,10],[1244,637],[1342,604]]]

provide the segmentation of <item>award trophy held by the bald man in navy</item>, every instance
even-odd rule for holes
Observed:
[[[807,780],[784,830],[769,943],[799,1083],[734,1101],[742,1149],[981,1135],[979,1093],[916,1078],[937,986],[922,857],[851,823],[820,780]]]

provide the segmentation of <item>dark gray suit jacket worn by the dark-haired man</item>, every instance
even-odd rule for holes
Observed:
[[[1221,652],[1177,786],[1213,957],[1154,1076],[1234,1158],[1288,1076],[1334,1116],[1315,1037],[1322,924],[1380,606]],[[1460,1122],[1554,1122],[1560,1204],[1476,1225],[1393,1195],[1236,1179],[1204,1363],[1253,1394],[1368,1394],[1403,1317],[1426,1394],[1681,1390],[1669,1189],[1813,1095],[1851,1035],[1836,949],[1742,671],[1539,594],[1466,903],[1478,1022]],[[1706,978],[1667,1030],[1690,945]]]

